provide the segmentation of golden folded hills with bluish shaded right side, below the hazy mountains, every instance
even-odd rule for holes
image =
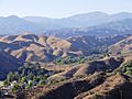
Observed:
[[[20,61],[51,62],[56,57],[88,56],[92,53],[106,52],[108,46],[127,36],[77,36],[63,40],[54,36],[24,33],[0,37],[0,47]]]

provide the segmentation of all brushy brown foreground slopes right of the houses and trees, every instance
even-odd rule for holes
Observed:
[[[19,99],[128,99],[132,98],[131,68],[132,62],[128,64],[119,57],[75,65],[51,76],[47,79],[51,84],[18,91],[15,96]]]

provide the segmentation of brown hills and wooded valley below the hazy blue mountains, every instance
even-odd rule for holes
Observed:
[[[18,99],[122,97],[117,87],[122,91],[127,91],[125,86],[131,87],[131,70],[123,70],[123,66],[132,65],[131,40],[130,34],[68,38],[31,33],[1,36],[2,90]],[[66,90],[70,92],[65,95]]]

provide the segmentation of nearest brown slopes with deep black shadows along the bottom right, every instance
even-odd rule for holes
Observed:
[[[48,87],[18,91],[19,99],[128,99],[132,84],[118,74],[95,74]]]

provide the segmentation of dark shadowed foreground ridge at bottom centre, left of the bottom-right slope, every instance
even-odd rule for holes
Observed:
[[[69,79],[55,86],[19,91],[16,97],[19,99],[73,99],[78,94],[103,82],[103,74],[95,74],[84,79]]]

